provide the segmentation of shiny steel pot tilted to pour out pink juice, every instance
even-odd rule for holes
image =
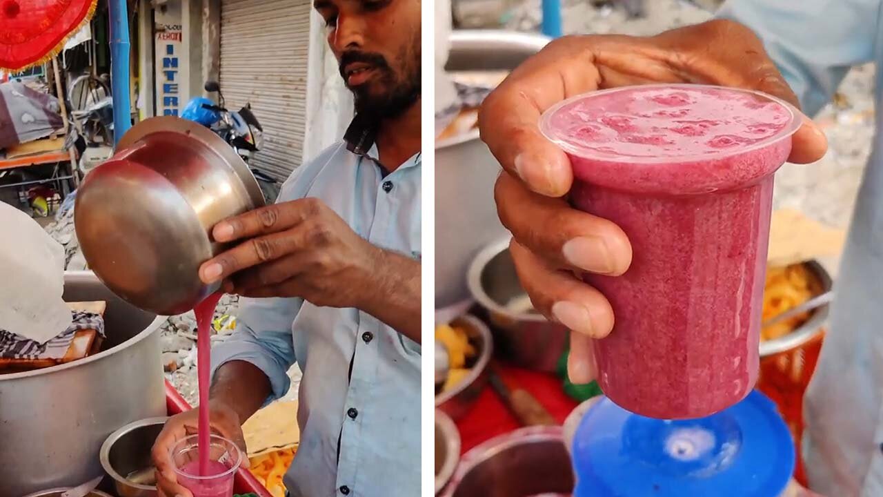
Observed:
[[[132,126],[77,192],[74,225],[89,268],[126,302],[161,316],[191,310],[200,264],[227,248],[210,230],[264,205],[242,158],[198,123],[162,116]]]

